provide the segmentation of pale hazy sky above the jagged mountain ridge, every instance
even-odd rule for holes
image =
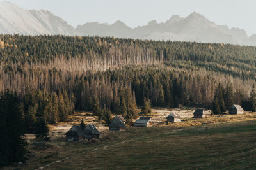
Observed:
[[[0,0],[2,1],[2,0]],[[217,25],[256,33],[255,0],[10,0],[22,8],[49,10],[76,27],[86,22],[122,20],[129,27],[165,22],[172,15],[188,16],[196,11]]]

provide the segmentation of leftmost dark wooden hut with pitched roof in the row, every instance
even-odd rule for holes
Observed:
[[[67,141],[79,141],[80,139],[84,139],[85,136],[81,127],[77,125],[73,125],[65,135]]]

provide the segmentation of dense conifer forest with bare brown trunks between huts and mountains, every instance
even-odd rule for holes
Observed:
[[[17,101],[21,134],[35,132],[38,122],[66,121],[76,110],[106,124],[117,113],[131,123],[148,103],[252,110],[255,66],[254,46],[0,35],[1,99],[7,93]]]

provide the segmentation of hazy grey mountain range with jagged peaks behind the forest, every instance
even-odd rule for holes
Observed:
[[[153,20],[148,25],[134,29],[127,27],[121,21],[111,25],[92,22],[74,28],[50,11],[25,10],[8,1],[0,2],[0,34],[115,36],[116,38],[256,45],[256,34],[248,37],[243,29],[230,29],[225,25],[216,25],[198,13],[191,13],[186,18],[173,15],[166,22],[157,23]]]

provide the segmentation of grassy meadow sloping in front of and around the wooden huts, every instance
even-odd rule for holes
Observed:
[[[256,167],[256,113],[186,118],[164,124],[169,110],[152,110],[150,128],[109,132],[91,113],[51,125],[51,139],[26,136],[30,159],[19,169],[253,169]],[[160,113],[159,113],[160,112]],[[184,111],[186,113],[186,111]],[[181,114],[180,114],[181,115]],[[72,124],[93,123],[100,140],[68,143]],[[13,169],[7,167],[6,169]]]

